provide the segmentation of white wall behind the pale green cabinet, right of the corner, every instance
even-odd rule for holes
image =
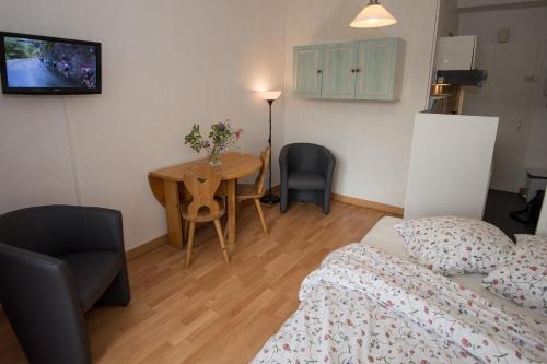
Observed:
[[[375,30],[349,27],[365,0],[291,0],[287,4],[284,141],[327,146],[337,157],[334,191],[401,207],[416,111],[426,108],[438,1],[385,0],[398,20]],[[381,37],[406,40],[399,102],[309,101],[294,97],[296,45]]]

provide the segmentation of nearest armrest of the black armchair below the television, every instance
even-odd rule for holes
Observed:
[[[90,362],[82,308],[66,262],[0,243],[0,302],[31,362]]]

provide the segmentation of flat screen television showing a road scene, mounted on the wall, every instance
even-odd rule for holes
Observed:
[[[101,44],[0,32],[4,94],[101,93]]]

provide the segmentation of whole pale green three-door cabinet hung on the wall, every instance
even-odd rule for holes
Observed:
[[[294,47],[294,93],[306,98],[396,101],[404,43],[371,39]]]

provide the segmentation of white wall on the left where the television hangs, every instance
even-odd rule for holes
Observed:
[[[103,94],[0,96],[0,213],[75,203],[75,173],[82,204],[123,211],[127,248],[164,234],[147,174],[196,157],[191,124],[231,118],[246,151],[266,144],[254,90],[283,86],[284,17],[284,1],[266,0],[1,1],[2,31],[102,42]]]

